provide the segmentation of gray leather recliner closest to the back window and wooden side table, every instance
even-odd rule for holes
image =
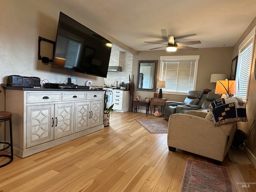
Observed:
[[[184,102],[166,101],[164,106],[164,118],[169,119],[171,114],[174,114],[178,105],[193,104],[197,105],[203,95],[202,91],[189,91]]]

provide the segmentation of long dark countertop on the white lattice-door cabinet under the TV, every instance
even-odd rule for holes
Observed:
[[[50,88],[29,88],[29,87],[4,87],[4,89],[22,91],[104,91],[102,89],[50,89]]]

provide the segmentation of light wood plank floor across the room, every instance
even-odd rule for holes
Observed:
[[[15,156],[0,168],[0,192],[179,192],[187,158],[213,162],[168,151],[167,134],[150,134],[136,118],[159,117],[113,112],[104,130],[23,159]],[[227,157],[222,166],[235,191],[256,191],[256,184],[237,184],[256,182],[255,168]]]

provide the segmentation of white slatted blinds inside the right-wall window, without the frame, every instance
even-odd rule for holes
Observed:
[[[247,98],[247,87],[252,57],[252,43],[250,43],[238,57],[238,67],[236,72],[236,97]]]

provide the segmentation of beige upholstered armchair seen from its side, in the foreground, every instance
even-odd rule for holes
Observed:
[[[209,114],[199,110],[172,114],[168,122],[169,150],[178,148],[214,159],[216,164],[220,164],[232,144],[236,122],[214,126]]]

